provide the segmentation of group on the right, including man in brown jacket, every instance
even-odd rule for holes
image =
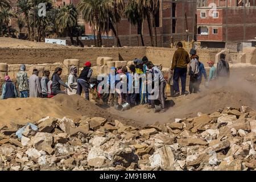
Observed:
[[[189,56],[190,54],[190,56]],[[217,63],[217,68],[214,67],[213,61],[208,61],[210,67],[209,77],[207,78],[207,73],[204,68],[204,64],[199,60],[199,56],[196,54],[195,49],[191,49],[190,52],[185,51],[183,44],[181,42],[177,43],[177,50],[174,53],[172,59],[172,65],[170,69],[171,77],[173,78],[174,85],[174,97],[200,92],[200,84],[202,78],[205,78],[205,84],[207,86],[213,85],[213,82],[217,78],[228,78],[229,77],[229,63],[225,60],[226,55],[221,53],[220,60]],[[187,67],[189,64],[190,76],[189,80],[189,92],[186,90],[186,78],[187,78]],[[179,79],[181,80],[181,93],[179,89]]]

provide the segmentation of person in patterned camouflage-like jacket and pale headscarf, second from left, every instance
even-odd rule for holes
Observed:
[[[28,97],[28,89],[29,89],[28,78],[27,78],[27,73],[25,71],[26,71],[26,66],[22,64],[20,66],[19,72],[16,75],[18,89],[20,92],[20,98]]]

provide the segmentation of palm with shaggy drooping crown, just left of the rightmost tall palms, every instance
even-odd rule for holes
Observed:
[[[141,35],[141,43],[142,46],[144,46],[144,40],[142,35],[143,14],[142,10],[139,10],[139,6],[136,0],[129,1],[125,8],[124,14],[131,24],[137,25],[138,34]]]

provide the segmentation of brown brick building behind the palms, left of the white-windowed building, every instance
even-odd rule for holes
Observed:
[[[187,14],[187,20],[185,13]],[[171,42],[187,40],[187,26],[189,40],[195,39],[196,0],[160,0],[159,15],[156,17],[156,22],[158,46],[160,47],[170,47]],[[92,27],[89,24],[85,25],[86,35],[93,35]],[[143,22],[142,34],[145,46],[150,46],[150,35],[146,20]],[[121,22],[118,23],[118,35],[122,46],[142,45],[137,26],[130,24],[126,18],[122,18]],[[112,31],[109,32],[109,36],[114,36]],[[113,43],[113,41],[111,42]],[[117,45],[115,40],[114,42]]]

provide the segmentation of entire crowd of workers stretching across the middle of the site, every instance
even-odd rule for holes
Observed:
[[[166,109],[165,88],[167,83],[173,85],[174,97],[177,97],[180,94],[200,92],[200,84],[203,77],[207,85],[213,85],[217,78],[229,77],[229,63],[225,60],[225,54],[222,53],[220,55],[217,68],[214,67],[213,61],[208,61],[210,67],[209,77],[207,77],[204,64],[200,61],[196,50],[191,49],[189,54],[185,51],[181,42],[177,43],[177,50],[172,59],[167,81],[160,69],[144,56],[142,59],[134,59],[133,64],[128,67],[129,71],[127,67],[112,67],[100,89],[97,86],[94,89],[97,91],[97,96],[102,98],[104,104],[109,104],[110,106],[124,103],[128,103],[130,106],[148,104],[147,107],[152,109],[155,109],[156,105],[158,105],[159,111],[163,112]],[[190,76],[189,92],[186,91],[188,64],[188,75]],[[79,76],[77,76],[77,67],[72,65],[68,81],[64,82],[60,78],[62,68],[57,67],[51,79],[49,78],[50,72],[48,70],[44,71],[42,78],[39,77],[38,69],[34,69],[32,76],[28,78],[26,67],[23,64],[16,75],[19,97],[50,98],[59,93],[81,95],[82,90],[84,90],[85,98],[89,100],[90,78],[93,72],[91,65],[89,61],[86,62]],[[179,80],[181,80],[181,93]],[[98,84],[99,81],[96,79],[96,82]],[[149,84],[151,87],[148,86]],[[61,85],[66,88],[65,91],[61,90]],[[10,77],[5,76],[1,99],[18,97],[18,90]],[[104,90],[104,92],[100,93],[101,90]],[[152,97],[156,92],[158,93],[156,97]]]

